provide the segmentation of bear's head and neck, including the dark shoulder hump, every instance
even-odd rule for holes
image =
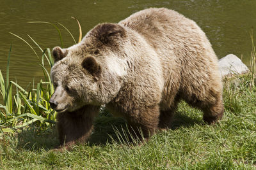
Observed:
[[[118,24],[100,24],[77,45],[53,48],[51,79],[54,94],[49,101],[58,111],[75,111],[86,104],[111,101],[127,74],[122,58],[125,30]]]

